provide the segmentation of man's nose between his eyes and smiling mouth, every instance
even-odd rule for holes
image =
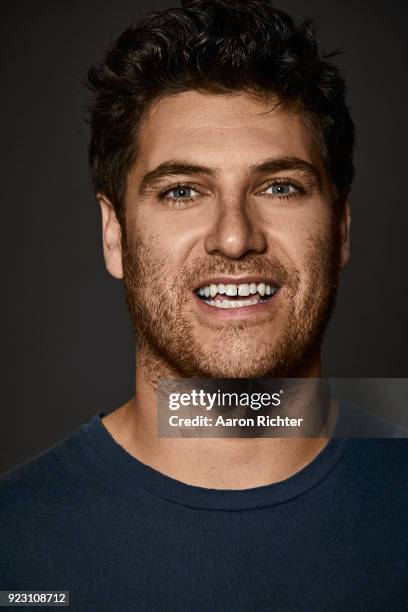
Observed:
[[[215,222],[206,236],[205,250],[209,254],[240,259],[266,249],[266,237],[255,211],[248,210],[246,202],[219,203]]]

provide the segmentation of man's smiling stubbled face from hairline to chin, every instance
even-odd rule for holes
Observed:
[[[301,113],[245,94],[156,102],[122,239],[139,350],[187,377],[302,375],[348,257],[334,199]]]

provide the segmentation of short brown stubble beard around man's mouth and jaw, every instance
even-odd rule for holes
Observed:
[[[339,282],[339,234],[333,223],[330,235],[310,241],[306,261],[308,286],[299,303],[298,271],[283,266],[276,257],[249,254],[239,261],[211,256],[211,260],[189,262],[171,285],[165,278],[167,259],[152,256],[149,240],[122,233],[123,278],[126,303],[137,346],[137,363],[144,376],[159,378],[294,378],[320,351],[325,328],[334,307]],[[226,321],[208,329],[211,341],[200,341],[194,332],[196,314],[187,294],[200,279],[209,276],[252,274],[271,276],[286,289],[286,299],[274,312],[275,336],[271,343],[261,334],[254,345],[256,325]],[[297,298],[297,299],[296,299]],[[273,298],[272,298],[273,299]],[[208,323],[207,323],[208,325]],[[265,325],[265,323],[263,323]],[[276,329],[281,329],[276,333]],[[259,330],[261,331],[261,330]]]

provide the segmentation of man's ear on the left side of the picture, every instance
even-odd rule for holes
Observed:
[[[106,269],[115,278],[123,278],[121,227],[112,202],[103,194],[98,194],[97,199],[102,213],[103,255]]]

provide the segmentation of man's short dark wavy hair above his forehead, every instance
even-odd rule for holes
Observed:
[[[269,0],[182,0],[128,27],[88,72],[89,163],[96,193],[121,218],[144,113],[188,90],[247,92],[294,102],[311,118],[339,194],[352,183],[354,125],[345,81],[323,55],[310,20],[296,25]]]

